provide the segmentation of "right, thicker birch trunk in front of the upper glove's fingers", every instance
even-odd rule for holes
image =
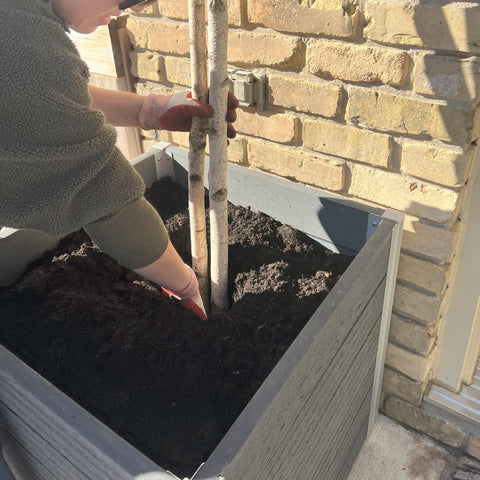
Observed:
[[[227,0],[208,0],[210,105],[210,288],[214,310],[228,308],[227,216]]]

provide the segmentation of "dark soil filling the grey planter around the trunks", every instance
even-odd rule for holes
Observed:
[[[190,261],[185,191],[148,200]],[[180,212],[180,213],[177,213]],[[190,476],[351,257],[229,206],[231,308],[197,320],[92,245],[64,239],[0,288],[0,341],[163,468]]]

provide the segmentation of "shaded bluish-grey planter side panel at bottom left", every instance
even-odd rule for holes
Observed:
[[[172,480],[1,346],[0,411],[19,480]]]

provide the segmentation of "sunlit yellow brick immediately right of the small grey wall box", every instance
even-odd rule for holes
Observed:
[[[323,117],[335,117],[340,110],[343,89],[338,85],[302,80],[298,76],[272,74],[268,77],[268,99],[271,105]]]

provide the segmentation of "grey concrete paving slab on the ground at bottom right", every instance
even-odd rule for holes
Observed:
[[[447,480],[457,462],[433,440],[381,415],[348,480]]]

